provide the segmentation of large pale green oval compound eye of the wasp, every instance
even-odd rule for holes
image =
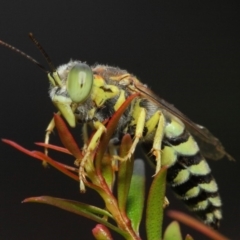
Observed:
[[[67,91],[75,103],[84,102],[92,89],[92,69],[84,63],[76,64],[69,72],[67,78]]]

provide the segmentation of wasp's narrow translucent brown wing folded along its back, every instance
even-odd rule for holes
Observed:
[[[144,86],[139,81],[133,80],[133,83],[141,96],[155,102],[160,108],[165,109],[167,112],[178,117],[184,122],[187,130],[194,135],[202,154],[206,158],[218,160],[226,156],[229,160],[234,160],[234,158],[225,151],[222,143],[216,137],[214,137],[213,134],[208,131],[208,129],[191,121],[172,104],[156,96],[156,94],[154,94],[149,88]]]

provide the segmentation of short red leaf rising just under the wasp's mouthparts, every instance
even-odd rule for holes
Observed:
[[[75,158],[81,159],[82,153],[61,116],[54,114],[54,121],[63,146],[66,147]]]

